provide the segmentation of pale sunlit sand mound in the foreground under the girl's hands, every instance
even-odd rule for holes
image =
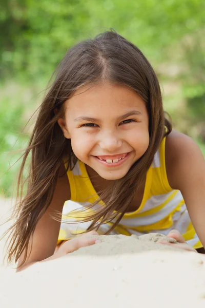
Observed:
[[[1,203],[0,217],[8,208]],[[100,239],[17,274],[1,266],[1,308],[205,307],[204,255],[170,249],[156,238]]]

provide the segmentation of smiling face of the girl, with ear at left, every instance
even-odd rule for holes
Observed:
[[[65,102],[58,124],[75,156],[107,180],[124,177],[149,145],[145,102],[127,86],[80,87]]]

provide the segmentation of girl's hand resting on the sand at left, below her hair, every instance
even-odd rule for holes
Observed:
[[[61,257],[69,253],[72,253],[81,247],[100,243],[100,240],[89,238],[89,235],[99,235],[99,234],[96,231],[90,231],[74,239],[64,241],[63,243],[60,244],[59,247],[56,247],[54,254],[58,255],[58,257]]]

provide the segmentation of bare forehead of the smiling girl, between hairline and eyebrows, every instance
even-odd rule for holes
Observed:
[[[133,89],[125,85],[101,83],[94,86],[82,86],[66,101],[69,112],[100,112],[112,110],[115,112],[138,111],[146,109],[145,102]]]

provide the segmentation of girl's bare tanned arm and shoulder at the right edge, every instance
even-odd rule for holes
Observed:
[[[181,191],[205,247],[205,160],[201,150],[185,134],[172,131],[166,140],[166,169],[170,186]]]

